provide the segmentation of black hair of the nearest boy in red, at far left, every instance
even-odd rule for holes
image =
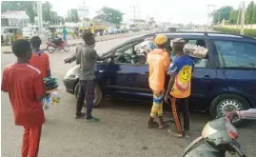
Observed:
[[[12,43],[11,50],[17,57],[26,57],[32,51],[30,42],[25,39],[19,39]]]

